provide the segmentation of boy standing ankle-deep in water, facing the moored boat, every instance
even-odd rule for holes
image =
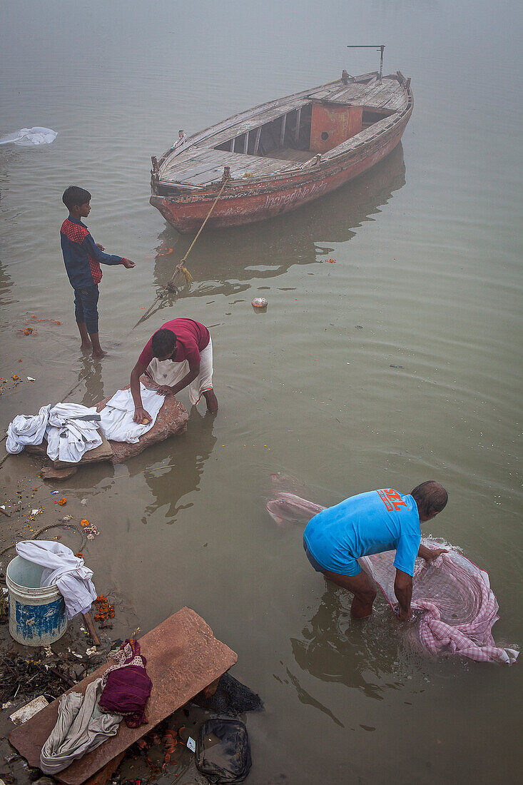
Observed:
[[[75,317],[82,338],[81,349],[93,349],[93,357],[104,357],[98,338],[98,309],[100,296],[98,283],[102,272],[100,265],[123,265],[130,270],[134,262],[121,256],[104,254],[104,246],[95,243],[89,229],[82,224],[91,211],[91,195],[85,188],[70,185],[62,196],[69,215],[60,228],[60,244],[64,254],[65,269],[71,287],[75,290]]]

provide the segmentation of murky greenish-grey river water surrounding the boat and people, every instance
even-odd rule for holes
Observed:
[[[2,4],[0,135],[59,133],[0,147],[2,378],[36,378],[8,385],[2,427],[87,371],[72,400],[111,394],[166,319],[210,327],[218,417],[192,411],[184,436],[85,469],[64,493],[73,514],[86,497],[101,530],[86,553],[98,591],[119,593],[142,631],[187,604],[238,652],[234,674],[266,707],[247,720],[252,783],[519,771],[521,666],[414,655],[381,598],[353,623],[301,531],[264,508],[277,472],[323,504],[439,480],[448,507],[424,531],[488,570],[496,640],[521,644],[519,31],[521,5],[503,0]],[[378,53],[346,49],[374,42],[384,72],[412,80],[402,146],[294,214],[204,232],[191,286],[131,330],[192,239],[148,204],[150,155],[179,128],[375,69]],[[93,194],[97,242],[137,262],[104,268],[102,363],[79,352],[60,254],[71,183]],[[33,314],[60,325],[20,337]],[[2,473],[9,495],[35,464]]]

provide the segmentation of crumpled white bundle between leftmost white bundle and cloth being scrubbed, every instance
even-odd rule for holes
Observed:
[[[57,403],[49,411],[46,430],[49,458],[78,463],[84,453],[102,443],[98,433],[100,420],[96,407],[89,408],[80,403]]]

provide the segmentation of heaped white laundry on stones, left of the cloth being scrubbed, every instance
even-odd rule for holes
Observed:
[[[47,455],[53,461],[78,463],[84,453],[101,443],[100,414],[95,407],[80,403],[42,406],[38,414],[18,414],[7,429],[5,449],[21,452],[26,444],[42,444],[47,439]]]

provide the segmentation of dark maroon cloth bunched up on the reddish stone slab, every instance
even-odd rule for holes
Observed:
[[[129,728],[138,728],[147,722],[145,705],[152,690],[152,681],[145,670],[147,660],[134,638],[128,638],[110,656],[115,664],[102,676],[104,691],[98,707],[101,711],[123,714]]]

